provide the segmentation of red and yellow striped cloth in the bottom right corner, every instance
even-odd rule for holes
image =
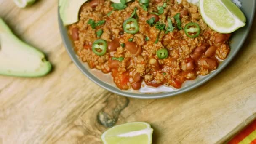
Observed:
[[[238,133],[227,144],[256,144],[256,120]]]

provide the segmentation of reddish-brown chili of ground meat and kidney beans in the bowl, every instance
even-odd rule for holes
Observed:
[[[184,81],[194,80],[197,75],[209,74],[218,67],[220,61],[217,58],[226,59],[229,54],[230,34],[220,34],[208,27],[199,8],[187,0],[182,0],[180,4],[176,0],[151,0],[147,11],[138,0],[128,2],[123,10],[115,11],[111,3],[109,0],[102,0],[98,5],[92,6],[90,1],[86,2],[80,10],[80,20],[69,26],[68,33],[74,39],[74,50],[80,59],[87,62],[90,68],[104,73],[111,72],[120,89],[139,89],[143,80],[154,87],[165,84],[181,88]],[[149,26],[147,20],[150,13],[158,12],[157,7],[163,3],[167,6],[163,14],[157,17],[157,21],[167,27],[169,17],[173,26],[177,27],[173,16],[180,13],[183,29],[175,28],[173,32],[165,33],[155,26]],[[131,17],[135,7],[139,32],[128,34],[123,30],[123,22]],[[105,22],[93,28],[88,24],[89,19]],[[189,38],[185,34],[184,27],[189,22],[199,24],[201,33],[198,37]],[[100,29],[103,33],[99,37],[96,32]],[[115,47],[108,49],[103,56],[98,56],[92,51],[92,45],[97,39],[106,40],[108,44],[115,40]],[[128,43],[128,40],[132,43]],[[129,47],[125,43],[130,44]],[[168,57],[165,59],[157,56],[157,51],[162,48],[168,50]],[[119,61],[112,61],[113,58]],[[133,81],[135,73],[140,76],[136,83]]]

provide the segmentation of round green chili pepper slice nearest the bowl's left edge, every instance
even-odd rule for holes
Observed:
[[[92,51],[98,56],[103,56],[107,51],[107,42],[99,39],[93,43]]]

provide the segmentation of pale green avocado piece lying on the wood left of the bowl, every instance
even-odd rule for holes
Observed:
[[[19,40],[0,18],[0,75],[39,77],[50,70],[45,55]]]

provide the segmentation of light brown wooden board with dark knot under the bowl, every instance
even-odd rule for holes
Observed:
[[[205,85],[145,100],[116,96],[75,67],[61,42],[57,0],[39,0],[26,9],[0,0],[0,16],[54,65],[42,78],[0,76],[0,144],[99,144],[107,128],[98,114],[116,124],[149,122],[154,144],[213,144],[256,117],[255,27],[229,66]]]

